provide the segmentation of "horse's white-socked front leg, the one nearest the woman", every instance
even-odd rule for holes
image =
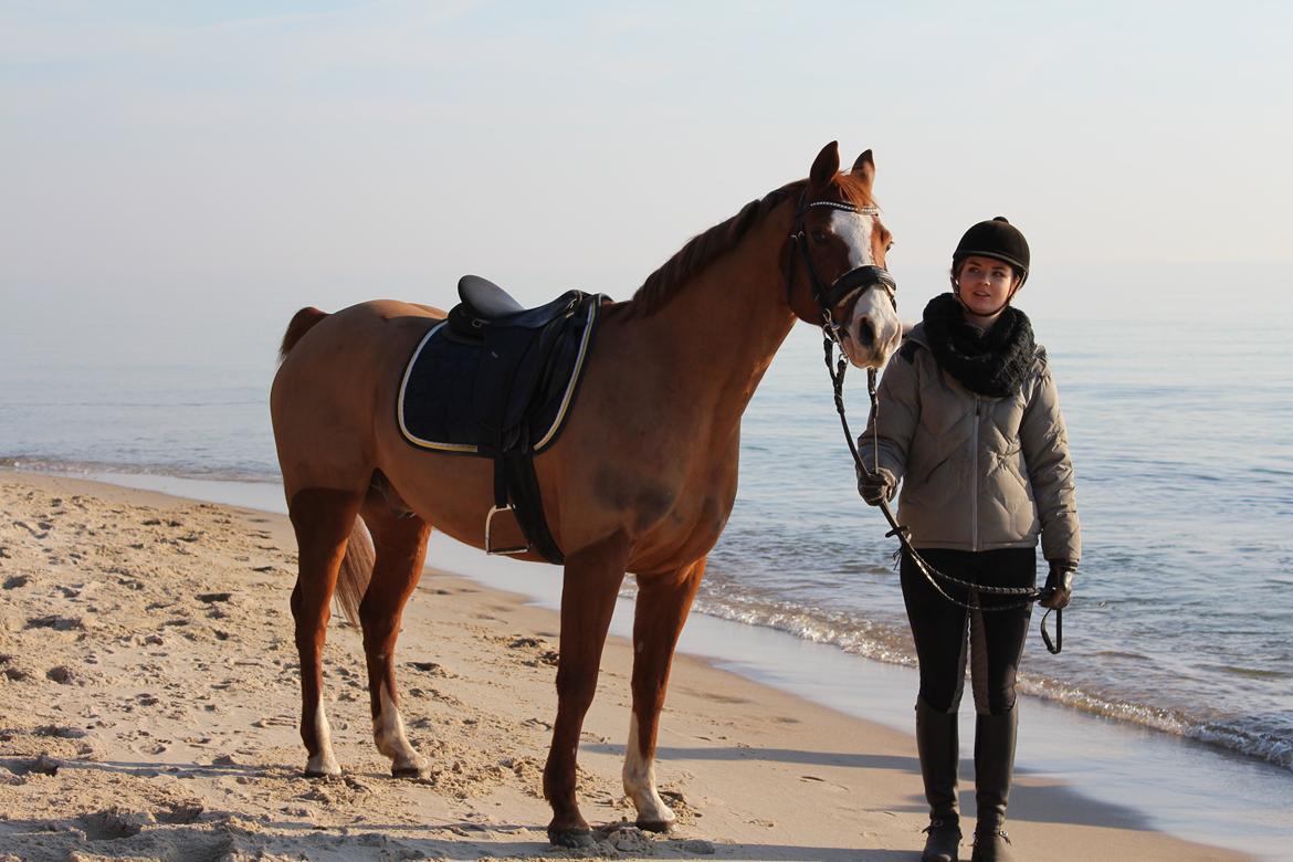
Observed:
[[[701,557],[667,575],[637,579],[634,712],[625,750],[625,792],[637,808],[637,826],[653,832],[665,832],[674,823],[674,812],[656,791],[656,737],[674,649],[703,574]]]

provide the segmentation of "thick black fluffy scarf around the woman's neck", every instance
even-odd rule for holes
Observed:
[[[1019,392],[1037,357],[1033,324],[1014,306],[981,332],[966,323],[957,297],[943,293],[924,306],[924,331],[939,366],[980,395]]]

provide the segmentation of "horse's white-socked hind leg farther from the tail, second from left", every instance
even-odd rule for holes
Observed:
[[[369,591],[359,604],[363,624],[363,654],[369,662],[369,697],[372,706],[372,739],[378,751],[390,759],[390,774],[416,778],[423,761],[409,744],[400,717],[394,653],[405,602],[418,585],[427,558],[431,526],[409,514],[400,517],[390,507],[370,495],[363,521],[372,534],[376,558]]]

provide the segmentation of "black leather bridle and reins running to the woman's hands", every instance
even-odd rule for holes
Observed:
[[[853,463],[857,465],[857,469],[864,473],[870,473],[862,463],[861,455],[857,452],[857,445],[853,442],[853,433],[848,428],[848,417],[844,415],[844,372],[848,370],[848,358],[844,355],[842,337],[846,326],[835,322],[833,311],[838,306],[861,296],[871,288],[884,291],[896,310],[897,283],[883,266],[868,264],[844,273],[829,286],[824,284],[821,277],[817,275],[817,269],[813,266],[812,256],[808,253],[808,240],[804,235],[804,215],[807,215],[813,207],[829,207],[831,209],[853,212],[861,216],[877,216],[879,215],[879,209],[875,207],[859,207],[842,200],[807,200],[807,194],[808,193],[806,190],[804,196],[800,198],[799,208],[795,212],[794,229],[790,233],[790,253],[786,256],[786,301],[787,304],[790,302],[791,289],[794,287],[795,256],[798,255],[804,260],[804,269],[808,271],[808,280],[812,284],[813,301],[821,311],[820,326],[822,332],[822,348],[826,354],[826,372],[830,375],[830,381],[835,390],[835,412],[839,414],[839,423],[844,430],[844,442],[848,443],[848,451],[852,454]],[[835,345],[839,345],[840,348],[838,362],[835,361]],[[875,368],[868,368],[866,390],[870,395],[873,415],[877,415],[879,411],[879,399],[875,393]],[[1042,592],[1036,587],[990,587],[943,574],[926,562],[926,560],[912,545],[910,530],[905,525],[900,525],[897,522],[897,518],[893,517],[893,512],[890,509],[887,500],[881,500],[879,509],[884,513],[884,520],[888,521],[891,527],[888,532],[884,534],[884,538],[897,536],[901,545],[900,553],[906,553],[908,557],[915,563],[921,574],[924,575],[924,579],[930,582],[930,585],[953,605],[958,605],[966,610],[1006,611],[1027,607],[1042,597]],[[943,583],[940,584],[939,582]],[[976,593],[992,596],[1018,596],[1020,600],[1006,605],[984,607],[978,602],[966,604],[953,596],[949,596],[943,584],[962,587],[968,591],[975,591]],[[1054,641],[1051,641],[1050,632],[1046,631],[1046,618],[1050,616],[1053,610],[1055,613]],[[1042,615],[1041,635],[1042,642],[1046,644],[1046,649],[1051,653],[1051,655],[1058,655],[1064,647],[1063,610],[1046,609],[1046,614]]]

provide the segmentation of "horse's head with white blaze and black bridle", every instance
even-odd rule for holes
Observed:
[[[831,141],[822,147],[787,249],[791,309],[800,319],[826,324],[848,359],[864,368],[882,367],[903,339],[897,284],[884,269],[893,237],[871,199],[874,180],[870,150],[840,173],[839,146]],[[793,289],[803,283],[808,289]]]

